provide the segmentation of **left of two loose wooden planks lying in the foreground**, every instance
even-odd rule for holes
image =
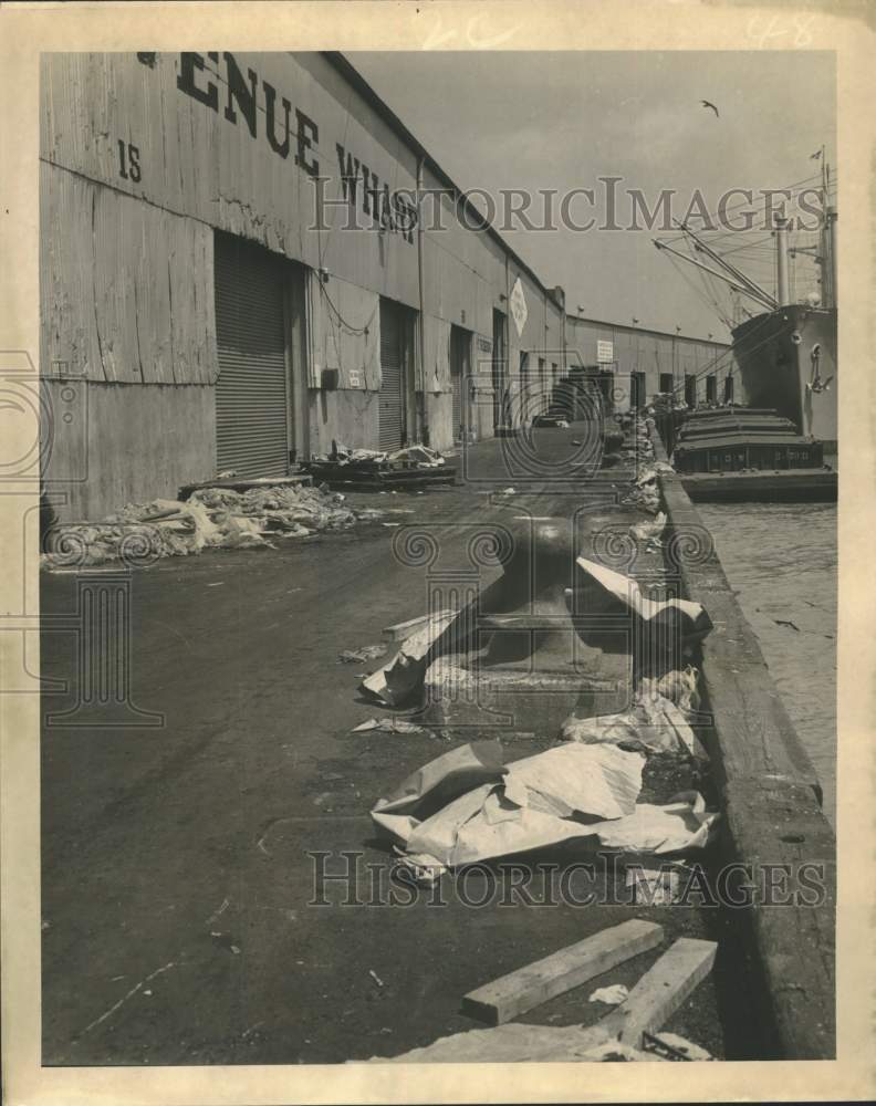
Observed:
[[[580,987],[663,940],[663,927],[633,918],[520,968],[462,999],[463,1013],[501,1025],[557,994]]]

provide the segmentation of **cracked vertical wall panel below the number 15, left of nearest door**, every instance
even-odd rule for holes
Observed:
[[[216,379],[209,227],[45,164],[40,217],[44,376]]]

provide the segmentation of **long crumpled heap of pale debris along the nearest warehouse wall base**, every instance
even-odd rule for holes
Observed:
[[[41,560],[46,568],[69,568],[128,560],[143,564],[204,549],[275,547],[272,539],[354,525],[356,512],[343,503],[336,492],[300,484],[246,492],[201,488],[186,501],[128,503],[101,522],[62,524],[50,533]]]

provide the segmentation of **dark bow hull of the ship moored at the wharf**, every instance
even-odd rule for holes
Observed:
[[[836,311],[794,304],[757,315],[736,327],[733,345],[747,403],[774,409],[835,453]]]

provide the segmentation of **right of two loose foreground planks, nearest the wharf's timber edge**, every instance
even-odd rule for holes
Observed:
[[[626,1001],[598,1023],[609,1037],[633,1048],[642,1034],[659,1030],[698,983],[711,971],[718,946],[692,937],[679,938],[629,992]]]

